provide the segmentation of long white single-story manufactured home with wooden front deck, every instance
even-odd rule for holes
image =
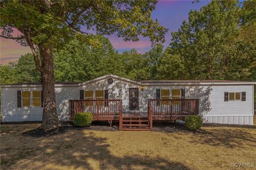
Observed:
[[[55,83],[55,94],[61,121],[72,120],[78,112],[91,112],[94,120],[116,120],[124,129],[126,124],[131,128],[132,122],[139,122],[141,129],[143,125],[150,129],[155,120],[184,120],[187,115],[198,114],[204,123],[253,125],[254,84],[226,80],[133,81],[105,75],[86,82]],[[3,122],[42,121],[40,83],[1,87]]]

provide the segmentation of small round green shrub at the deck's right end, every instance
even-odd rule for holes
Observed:
[[[201,128],[202,124],[203,124],[203,120],[201,116],[189,115],[185,118],[185,126],[190,130],[195,131]]]

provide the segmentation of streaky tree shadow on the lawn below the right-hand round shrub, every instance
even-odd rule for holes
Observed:
[[[251,125],[204,124],[210,129],[188,130],[184,124],[156,123],[153,131],[163,133],[193,134],[191,143],[201,143],[214,147],[236,148],[243,146],[256,147],[256,127]],[[228,129],[227,129],[228,128]]]

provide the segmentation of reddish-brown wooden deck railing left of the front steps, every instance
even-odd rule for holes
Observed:
[[[69,109],[70,120],[80,112],[92,113],[94,120],[102,120],[102,117],[122,114],[122,100],[69,100]]]

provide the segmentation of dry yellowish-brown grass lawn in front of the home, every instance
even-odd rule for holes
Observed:
[[[70,129],[23,135],[40,124],[1,125],[1,169],[246,169],[256,163],[256,129],[205,126],[204,133]],[[253,169],[253,168],[250,168]]]

